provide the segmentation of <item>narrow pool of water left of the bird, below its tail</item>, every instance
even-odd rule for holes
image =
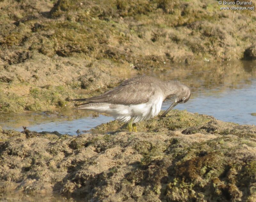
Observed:
[[[75,135],[77,130],[88,131],[91,128],[113,120],[105,114],[86,110],[62,110],[55,114],[45,113],[22,113],[22,114],[0,114],[0,126],[3,129],[14,129],[23,131],[26,126],[31,131],[58,131],[61,134]]]

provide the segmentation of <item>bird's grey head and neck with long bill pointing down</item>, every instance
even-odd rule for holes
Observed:
[[[167,87],[170,89],[169,95],[173,95],[175,100],[172,105],[162,114],[161,117],[165,116],[177,104],[187,102],[191,94],[188,86],[181,84],[179,81],[169,81],[167,83]]]

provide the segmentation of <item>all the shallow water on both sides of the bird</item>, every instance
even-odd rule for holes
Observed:
[[[192,65],[166,65],[159,70],[141,71],[162,80],[180,80],[190,86],[192,93],[187,103],[175,108],[207,114],[222,121],[256,124],[256,62],[236,61],[223,63],[196,63]],[[163,103],[165,110],[171,105]],[[58,131],[75,135],[76,131],[91,128],[113,120],[112,117],[93,112],[66,110],[53,115],[44,113],[1,114],[3,129],[22,131]]]

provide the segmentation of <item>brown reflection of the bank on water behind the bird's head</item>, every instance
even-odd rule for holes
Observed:
[[[208,90],[225,91],[226,88],[241,88],[256,78],[256,61],[222,63],[197,62],[191,65],[175,64],[160,71],[141,72],[162,80],[180,80],[195,88],[196,93]]]

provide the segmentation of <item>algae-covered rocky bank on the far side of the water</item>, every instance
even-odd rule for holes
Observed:
[[[255,18],[214,0],[1,0],[0,112],[73,107],[145,70],[255,60]]]

